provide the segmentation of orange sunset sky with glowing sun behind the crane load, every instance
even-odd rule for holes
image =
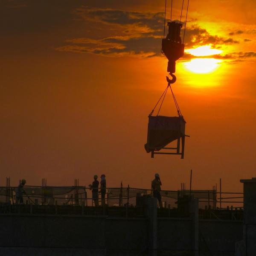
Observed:
[[[174,20],[181,5],[173,0]],[[221,177],[241,191],[240,179],[256,177],[255,9],[190,0],[172,85],[190,135],[182,160],[144,149],[167,86],[164,0],[0,1],[0,185],[88,186],[104,173],[108,186],[149,188],[158,172],[163,189],[179,189],[193,169],[194,189]],[[177,115],[166,97],[160,114]]]

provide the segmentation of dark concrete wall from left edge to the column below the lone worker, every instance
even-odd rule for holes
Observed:
[[[0,255],[29,255],[29,252],[79,255],[80,252],[100,256],[120,255],[120,251],[128,249],[145,252],[147,221],[146,218],[1,215]]]

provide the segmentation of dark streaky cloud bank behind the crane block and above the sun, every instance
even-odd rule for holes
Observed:
[[[163,12],[128,12],[117,9],[77,8],[73,11],[77,19],[93,23],[94,34],[86,38],[70,38],[58,51],[91,53],[105,56],[135,56],[148,58],[161,55],[163,37]],[[105,35],[106,27],[108,36]],[[166,28],[166,33],[167,33]],[[182,30],[183,31],[183,30]],[[97,32],[97,33],[96,33]],[[100,37],[102,35],[102,37]],[[183,39],[183,34],[181,34]],[[186,26],[186,47],[211,44],[220,47],[225,44],[238,44],[233,38],[210,34],[200,26]]]

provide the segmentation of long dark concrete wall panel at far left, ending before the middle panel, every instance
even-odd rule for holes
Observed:
[[[105,248],[105,218],[0,217],[0,246]]]

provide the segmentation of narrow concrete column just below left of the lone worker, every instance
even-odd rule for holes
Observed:
[[[157,256],[157,198],[147,198],[148,249],[149,255]]]

